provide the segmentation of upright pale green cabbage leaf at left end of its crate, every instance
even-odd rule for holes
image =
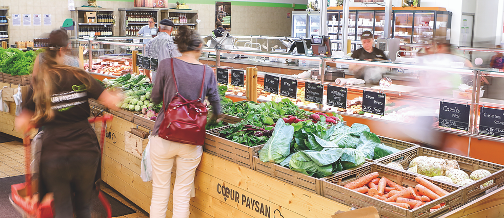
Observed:
[[[293,136],[294,127],[286,125],[283,119],[278,119],[273,135],[259,151],[259,159],[263,162],[282,162],[290,154]]]

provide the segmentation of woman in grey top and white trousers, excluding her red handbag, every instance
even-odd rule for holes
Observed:
[[[220,113],[220,99],[212,68],[198,61],[204,42],[196,31],[189,30],[187,26],[180,26],[174,41],[182,56],[160,61],[151,99],[154,104],[163,101],[166,107],[177,93],[184,96],[188,101],[205,99],[205,96],[208,96],[208,101],[213,106],[213,115],[209,122],[213,123]],[[175,75],[175,78],[172,75]],[[203,78],[205,78],[203,90],[200,90]],[[177,84],[174,84],[174,79]],[[178,87],[178,92],[175,85]],[[200,91],[201,96],[198,96]],[[165,116],[165,107],[159,112],[150,138],[152,163],[150,217],[166,217],[170,198],[171,172],[173,163],[176,161],[177,173],[173,188],[173,217],[187,218],[189,217],[189,200],[192,184],[194,183],[194,174],[201,160],[203,148],[202,146],[169,141],[158,136],[159,128]]]

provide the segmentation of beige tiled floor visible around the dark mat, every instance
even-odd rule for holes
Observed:
[[[25,169],[25,150],[22,142],[11,141],[0,143],[0,178],[24,175]],[[108,193],[113,198],[122,202],[126,206],[132,208],[136,213],[125,216],[117,216],[120,218],[148,218],[149,214],[131,201],[126,199],[119,192],[111,188],[107,184],[102,185],[102,190]]]

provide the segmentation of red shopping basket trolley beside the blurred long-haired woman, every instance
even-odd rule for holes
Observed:
[[[102,121],[102,134],[100,134],[100,152],[103,154],[103,146],[105,141],[105,130],[107,127],[107,121],[112,120],[113,116],[105,114],[100,117],[94,117],[89,119],[89,123],[95,123]],[[29,131],[25,133],[25,137],[23,139],[23,144],[25,147],[25,165],[26,165],[26,174],[25,174],[25,183],[14,184],[11,185],[11,196],[10,201],[12,205],[23,215],[23,217],[30,218],[52,218],[52,201],[53,198],[51,195],[46,195],[41,202],[38,201],[38,196],[33,194],[34,189],[38,186],[37,181],[32,181],[31,172],[30,172],[30,135]],[[100,158],[102,155],[100,155]],[[99,182],[96,185],[96,189],[99,191],[98,198],[102,202],[105,210],[107,211],[107,217],[112,217],[112,211],[110,207],[110,203],[107,198],[100,190]]]

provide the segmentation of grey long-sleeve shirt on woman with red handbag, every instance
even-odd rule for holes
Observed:
[[[170,103],[177,93],[172,76],[171,60],[172,58],[167,58],[159,62],[156,82],[152,88],[151,95],[151,100],[154,104],[159,104],[161,101],[163,101],[164,104]],[[175,68],[175,78],[177,80],[180,95],[184,96],[188,101],[198,98],[205,99],[205,96],[208,96],[208,101],[213,106],[213,113],[219,114],[220,96],[217,90],[217,81],[215,80],[213,69],[208,65],[192,64],[177,58],[173,58],[173,66]],[[206,67],[205,84],[203,85],[203,93],[201,96],[198,96],[201,80],[203,80],[203,67]],[[163,122],[165,116],[163,109],[157,116],[152,135],[158,134],[159,126]]]

